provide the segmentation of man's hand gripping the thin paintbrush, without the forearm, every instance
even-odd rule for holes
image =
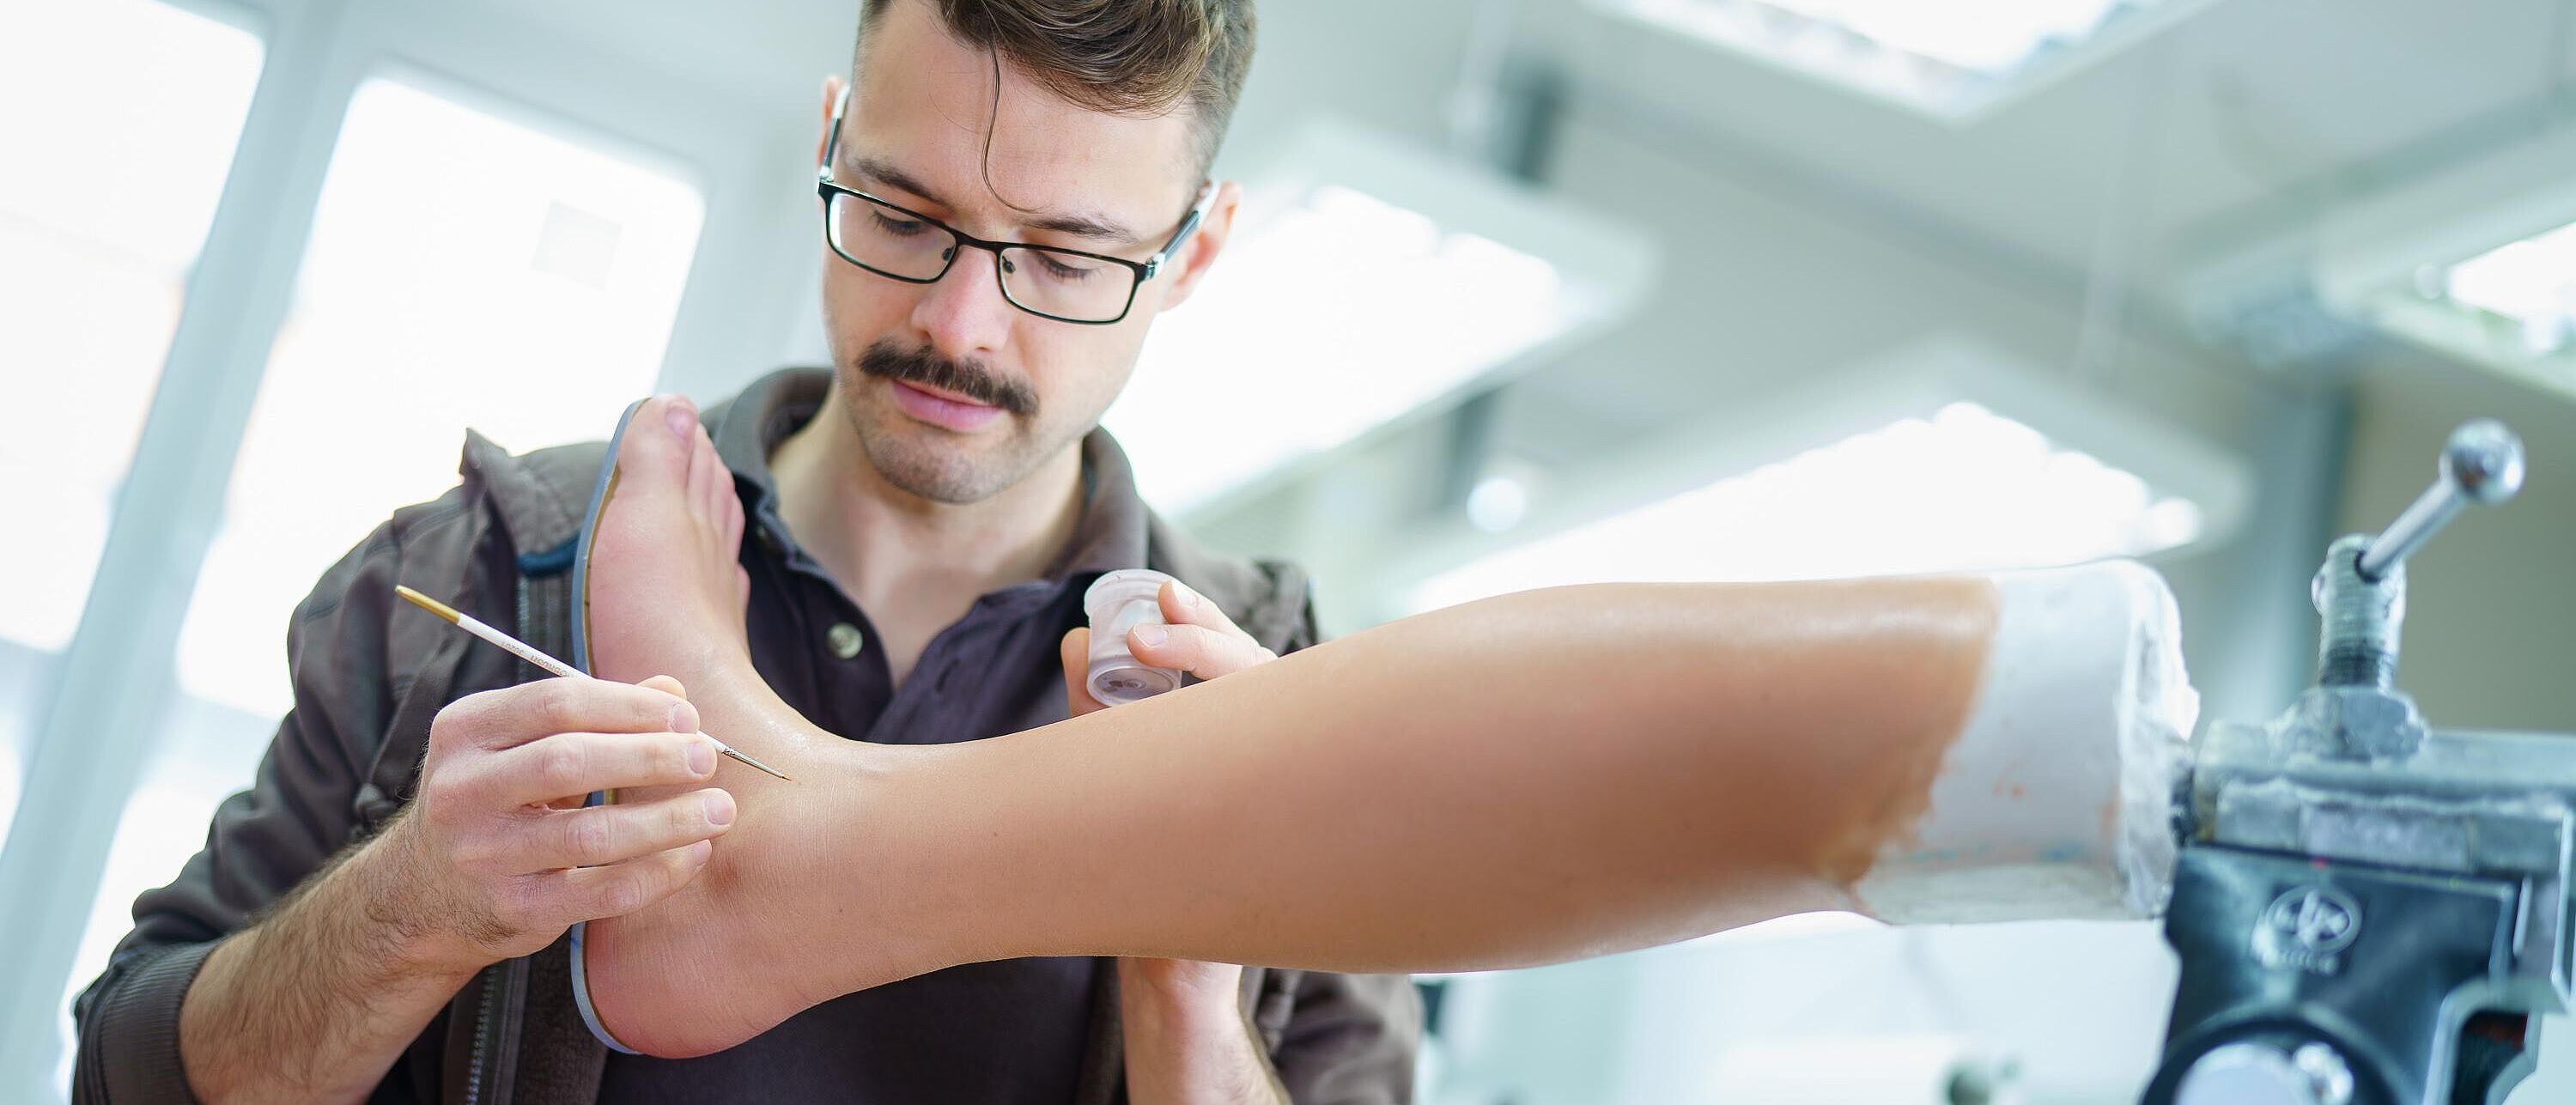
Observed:
[[[384,920],[425,963],[479,968],[654,904],[706,865],[734,798],[698,788],[582,809],[582,796],[714,773],[716,744],[670,677],[459,698],[430,721],[420,796],[376,840],[389,886],[407,889]]]

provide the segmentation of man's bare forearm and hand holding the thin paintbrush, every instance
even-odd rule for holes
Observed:
[[[688,883],[729,793],[580,809],[716,770],[680,693],[544,680],[438,711],[412,804],[206,953],[178,1025],[196,1100],[366,1100],[474,971]]]

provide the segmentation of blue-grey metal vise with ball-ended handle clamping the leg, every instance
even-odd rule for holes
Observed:
[[[2396,688],[2406,554],[2519,484],[2504,425],[2452,433],[2424,497],[2326,551],[2318,685],[2200,737],[2148,1105],[2494,1105],[2532,1072],[2571,999],[2576,737],[2427,729]]]

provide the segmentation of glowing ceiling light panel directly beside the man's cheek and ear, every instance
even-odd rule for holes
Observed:
[[[1340,124],[1252,175],[1224,260],[1103,420],[1162,510],[1206,510],[1623,317],[1638,234]]]

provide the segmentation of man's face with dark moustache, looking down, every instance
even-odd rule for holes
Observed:
[[[1188,108],[1090,111],[1002,62],[997,111],[992,54],[956,41],[927,0],[904,0],[868,28],[832,180],[974,237],[1146,260],[1190,209],[1195,170]],[[868,461],[904,492],[979,502],[1074,448],[1126,386],[1154,312],[1213,260],[1231,201],[1115,325],[1012,307],[987,250],[961,247],[938,283],[824,250],[824,332]]]

